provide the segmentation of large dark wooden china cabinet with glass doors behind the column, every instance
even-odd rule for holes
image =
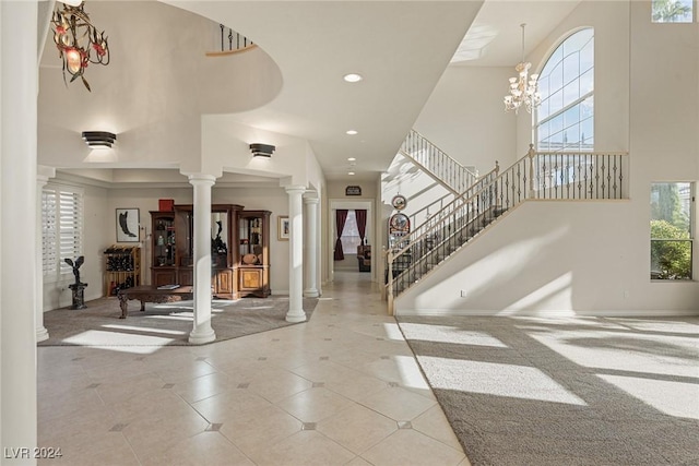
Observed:
[[[194,212],[175,205],[173,212],[151,212],[151,284],[194,284]],[[211,288],[214,297],[266,297],[269,285],[270,212],[244,211],[238,204],[211,206]],[[254,256],[254,258],[253,258]]]

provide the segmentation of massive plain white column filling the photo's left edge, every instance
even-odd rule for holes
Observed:
[[[3,465],[36,465],[37,4],[0,1],[0,447],[27,452]]]

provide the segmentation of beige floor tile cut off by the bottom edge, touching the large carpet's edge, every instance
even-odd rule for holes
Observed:
[[[382,466],[457,466],[465,455],[412,429],[400,429],[362,454],[374,465]]]

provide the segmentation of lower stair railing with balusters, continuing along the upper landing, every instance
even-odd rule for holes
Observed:
[[[511,167],[500,172],[496,166],[410,235],[389,244],[390,312],[395,297],[524,201],[626,199],[627,171],[627,153],[537,153],[530,145]]]

